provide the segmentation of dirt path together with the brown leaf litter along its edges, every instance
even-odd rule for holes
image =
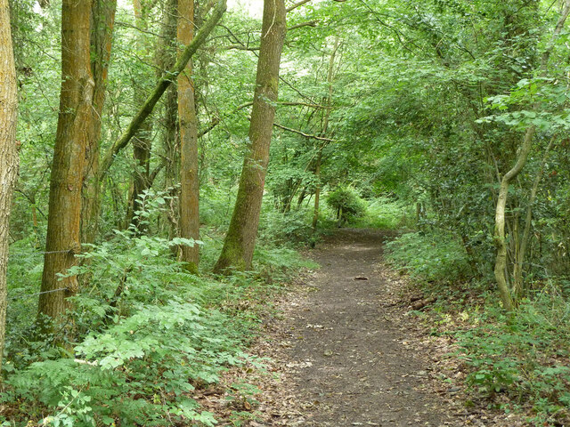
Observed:
[[[379,230],[338,230],[308,254],[321,268],[278,302],[279,314],[265,320],[251,350],[271,358],[270,375],[242,369],[224,379],[261,392],[238,393],[231,405],[205,393],[202,405],[221,425],[236,425],[232,410],[252,415],[237,425],[253,427],[524,425],[465,406],[453,342],[407,315],[414,291],[382,264],[386,238]]]

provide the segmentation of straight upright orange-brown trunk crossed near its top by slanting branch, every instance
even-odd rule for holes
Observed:
[[[190,44],[194,25],[194,0],[178,0],[178,44]],[[199,239],[198,117],[192,83],[192,61],[178,76],[178,117],[180,117],[180,236]],[[199,246],[181,246],[181,261],[196,272]]]

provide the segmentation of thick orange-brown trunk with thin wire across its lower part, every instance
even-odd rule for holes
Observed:
[[[44,274],[38,319],[60,318],[77,293],[77,276],[60,278],[76,264],[81,222],[81,189],[85,177],[85,149],[93,114],[91,73],[91,0],[63,0],[61,4],[61,95],[50,178],[49,214]]]

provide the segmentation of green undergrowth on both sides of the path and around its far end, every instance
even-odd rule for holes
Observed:
[[[449,231],[418,230],[414,210],[403,200],[363,199],[350,187],[324,197],[321,232],[345,224],[400,230],[387,243],[386,259],[425,294],[438,296],[431,310],[412,315],[443,325],[444,334],[455,337],[460,350],[454,356],[466,372],[469,399],[521,412],[536,425],[567,423],[565,282],[537,278],[542,282],[507,318],[490,272],[480,274],[485,269],[474,268],[462,241]],[[215,202],[204,211],[216,225],[202,227],[200,242],[116,230],[92,247],[77,268],[90,281],[74,298],[76,338],[69,342],[55,339],[61,334],[40,336],[28,314],[37,301],[30,284],[39,283],[42,269],[41,254],[29,252],[41,245],[34,237],[12,245],[0,425],[216,424],[216,415],[193,399],[194,391],[216,384],[231,367],[263,370],[264,361],[248,355],[248,343],[271,310],[273,295],[298,270],[314,267],[296,248],[319,235],[310,226],[311,205],[281,213],[265,204],[253,270],[215,277],[208,271],[221,249],[227,227],[222,218],[232,200]],[[148,221],[159,215],[158,206]],[[173,247],[180,244],[201,246],[199,275],[173,259]],[[441,327],[433,333],[442,334]],[[236,412],[233,419],[240,425],[243,415]]]

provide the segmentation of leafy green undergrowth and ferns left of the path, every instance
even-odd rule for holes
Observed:
[[[149,222],[159,207],[145,214]],[[223,230],[205,226],[200,242],[116,230],[70,271],[90,280],[62,326],[67,341],[60,330],[40,333],[30,316],[37,304],[37,286],[30,284],[39,284],[43,261],[28,255],[33,239],[12,245],[0,425],[216,424],[193,391],[216,384],[230,367],[263,366],[247,345],[272,295],[314,267],[284,243],[302,237],[295,222],[280,231],[287,219],[265,217],[273,233],[262,229],[254,269],[230,277],[208,274]],[[184,244],[202,246],[200,275],[173,258],[173,247]]]

